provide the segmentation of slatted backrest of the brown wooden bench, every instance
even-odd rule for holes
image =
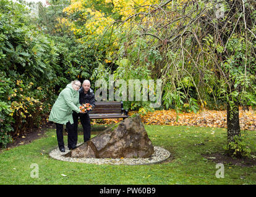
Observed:
[[[122,113],[122,102],[95,102],[90,114]]]

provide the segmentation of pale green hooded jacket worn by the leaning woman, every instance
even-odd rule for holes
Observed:
[[[61,91],[59,97],[51,109],[49,121],[54,123],[66,124],[70,122],[73,124],[73,111],[79,113],[79,92],[72,88],[72,84],[67,84],[66,88]]]

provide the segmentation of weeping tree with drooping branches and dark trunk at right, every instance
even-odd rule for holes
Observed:
[[[255,7],[254,0],[151,4],[116,21],[126,36],[113,61],[126,60],[122,70],[143,66],[151,78],[163,79],[167,108],[179,108],[184,100],[193,105],[189,87],[201,105],[205,94],[224,99],[228,153],[242,156],[243,150],[236,148],[241,140],[239,105],[256,105]]]

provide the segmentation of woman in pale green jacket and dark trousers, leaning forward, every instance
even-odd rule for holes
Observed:
[[[67,84],[66,88],[61,91],[56,102],[51,109],[49,115],[49,121],[56,123],[56,134],[58,140],[59,150],[65,152],[64,140],[63,140],[63,125],[66,124],[67,129],[67,147],[69,150],[76,148],[75,136],[74,136],[74,121],[72,117],[73,111],[76,113],[82,113],[80,111],[79,103],[79,88],[81,82],[78,80],[72,81]]]

